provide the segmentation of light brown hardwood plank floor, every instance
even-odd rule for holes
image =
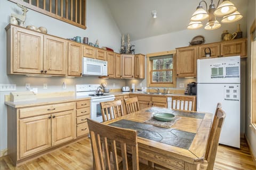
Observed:
[[[90,139],[53,151],[18,167],[4,156],[0,158],[0,169],[92,169]],[[249,147],[241,139],[241,149],[219,145],[215,170],[255,170]]]

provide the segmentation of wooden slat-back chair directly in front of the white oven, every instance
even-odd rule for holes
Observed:
[[[100,106],[103,122],[124,115],[121,100],[101,102]]]

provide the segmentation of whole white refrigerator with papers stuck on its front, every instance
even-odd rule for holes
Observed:
[[[240,56],[197,60],[197,111],[215,113],[222,104],[226,118],[219,143],[240,148]]]

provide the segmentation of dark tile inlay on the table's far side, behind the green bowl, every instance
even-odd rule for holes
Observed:
[[[160,108],[160,107],[154,107],[148,109],[146,112],[150,113],[171,113],[174,114],[175,116],[185,116],[185,117],[191,117],[191,118],[199,118],[203,119],[204,118],[204,113],[194,113],[194,112],[182,112],[182,111],[175,111],[172,109],[166,109],[166,108]]]

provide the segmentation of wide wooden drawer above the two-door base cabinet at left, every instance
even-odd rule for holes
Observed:
[[[75,109],[75,103],[62,103],[55,105],[44,105],[22,108],[19,110],[20,118],[37,116],[42,114],[51,114],[61,111],[69,111]]]

